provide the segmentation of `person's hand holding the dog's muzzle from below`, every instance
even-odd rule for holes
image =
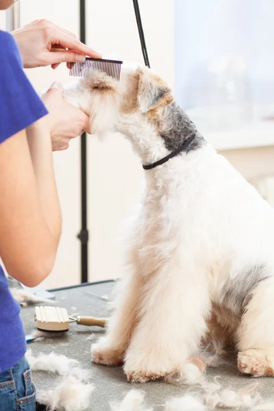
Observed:
[[[49,111],[47,122],[53,151],[68,149],[71,138],[79,136],[83,131],[90,132],[89,117],[75,105],[68,103],[62,90],[62,84],[55,82],[42,97]]]

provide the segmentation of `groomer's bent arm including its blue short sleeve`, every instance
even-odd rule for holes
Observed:
[[[0,256],[12,277],[35,286],[51,272],[60,237],[50,114],[8,33],[0,52]]]

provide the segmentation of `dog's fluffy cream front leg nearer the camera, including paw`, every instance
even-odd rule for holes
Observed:
[[[205,331],[209,295],[206,273],[169,262],[148,280],[140,321],[125,356],[129,382],[146,382],[182,371]]]

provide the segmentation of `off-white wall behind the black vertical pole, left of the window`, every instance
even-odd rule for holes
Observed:
[[[127,61],[142,62],[132,1],[88,0],[87,44],[102,53],[116,51]],[[140,0],[151,67],[173,85],[173,0]],[[157,18],[155,18],[157,16]],[[21,0],[21,25],[48,18],[78,34],[79,12],[75,0]],[[5,15],[0,13],[0,28]],[[71,81],[65,66],[55,71],[26,71],[36,90],[54,80]],[[129,208],[138,199],[142,169],[123,138],[116,136],[99,144],[88,138],[89,280],[120,275],[116,238]],[[47,288],[77,284],[80,279],[80,163],[79,140],[66,152],[55,153],[55,171],[63,213],[63,232],[53,273]]]

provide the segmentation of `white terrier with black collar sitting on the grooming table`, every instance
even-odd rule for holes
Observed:
[[[128,272],[92,360],[145,382],[181,370],[203,340],[234,343],[242,373],[274,375],[274,210],[149,69],[123,69],[120,82],[94,72],[66,97],[92,133],[123,133],[147,166]]]

